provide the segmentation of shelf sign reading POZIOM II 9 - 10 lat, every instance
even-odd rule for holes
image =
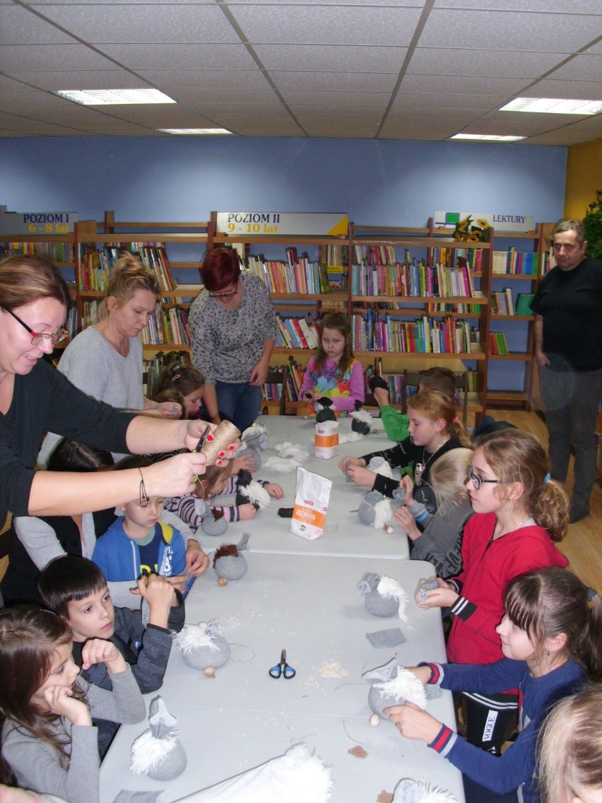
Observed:
[[[349,215],[304,212],[218,212],[218,234],[301,234],[308,237],[347,237]]]

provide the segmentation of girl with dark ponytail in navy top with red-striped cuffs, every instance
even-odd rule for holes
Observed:
[[[485,665],[426,663],[412,667],[422,683],[451,691],[494,694],[519,688],[519,736],[501,758],[458,737],[426,711],[407,703],[384,713],[407,739],[424,741],[462,770],[466,803],[539,801],[535,746],[551,707],[602,673],[602,602],[566,569],[515,577],[503,596],[495,628],[501,660]],[[568,799],[568,798],[567,798]]]

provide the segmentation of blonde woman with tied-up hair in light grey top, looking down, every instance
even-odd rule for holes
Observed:
[[[59,371],[89,396],[120,410],[180,418],[177,402],[152,402],[142,386],[140,332],[161,300],[157,276],[132,254],[116,260],[98,322],[79,332],[65,349]],[[38,455],[40,467],[59,442],[49,433]],[[115,460],[124,454],[113,454]]]

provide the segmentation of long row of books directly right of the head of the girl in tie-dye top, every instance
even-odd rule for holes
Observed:
[[[369,310],[367,316],[352,316],[352,344],[358,352],[466,354],[475,341],[474,330],[461,318],[399,320]]]

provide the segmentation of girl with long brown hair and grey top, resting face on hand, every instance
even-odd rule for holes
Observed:
[[[83,666],[103,663],[112,691],[79,677],[71,657],[71,628],[47,610],[13,608],[0,614],[0,782],[99,803],[100,773],[92,717],[136,723],[146,706],[124,657],[112,642],[83,645]]]

